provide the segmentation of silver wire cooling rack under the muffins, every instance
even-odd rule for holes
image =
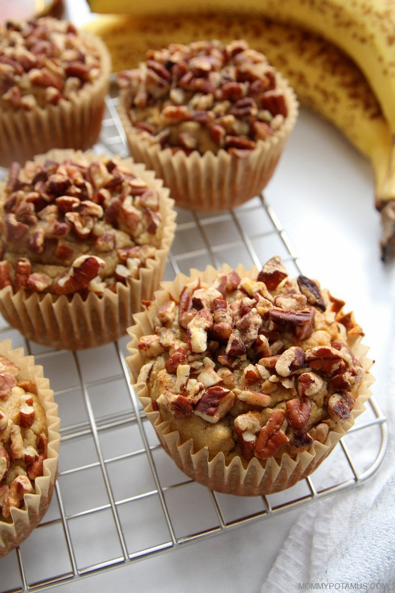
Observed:
[[[107,99],[97,152],[127,155],[116,112]],[[260,267],[280,254],[290,275],[300,263],[264,197],[234,211],[202,214],[178,209],[178,227],[165,279],[226,261]],[[0,326],[1,327],[1,326]],[[221,535],[365,482],[387,449],[386,418],[374,400],[312,476],[275,495],[221,495],[186,479],[163,452],[129,384],[127,337],[78,353],[27,342],[2,326],[44,366],[62,420],[59,474],[43,521],[0,560],[1,593],[43,591]],[[369,442],[369,454],[363,442]],[[363,455],[362,455],[363,452]],[[336,476],[330,465],[336,460]],[[94,537],[92,537],[94,534]]]

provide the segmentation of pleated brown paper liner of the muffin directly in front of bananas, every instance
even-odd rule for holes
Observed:
[[[211,151],[203,155],[194,151],[188,156],[181,150],[173,154],[171,148],[161,149],[158,143],[152,144],[152,137],[137,132],[131,125],[127,113],[127,90],[121,91],[118,113],[131,156],[137,162],[144,162],[163,179],[177,206],[206,212],[239,206],[262,192],[274,173],[297,119],[296,95],[281,76],[278,79],[284,90],[288,116],[281,129],[265,141],[258,140],[256,148],[246,158],[236,157],[224,149],[216,155]]]

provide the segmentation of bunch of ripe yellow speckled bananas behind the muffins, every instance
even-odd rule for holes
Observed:
[[[383,2],[377,0],[375,4]],[[389,48],[385,53],[384,47],[379,50],[378,30],[375,31],[374,44],[371,36],[365,39],[365,44],[370,47],[368,50],[364,47],[365,60],[358,60],[365,76],[368,78],[370,70],[377,71],[377,63],[380,63],[380,71],[386,69],[388,72],[386,92],[380,94],[378,91],[384,82],[379,81],[377,72],[371,73],[369,83],[356,64],[350,47],[357,52],[354,48],[357,41],[350,41],[350,47],[346,47],[348,34],[354,39],[362,31],[359,22],[362,14],[359,15],[357,11],[352,21],[350,14],[348,20],[344,21],[345,31],[339,30],[341,15],[346,18],[345,7],[351,4],[353,7],[359,4],[362,7],[362,4],[365,6],[367,3],[363,0],[354,0],[352,3],[350,0],[317,0],[309,4],[304,0],[249,0],[250,14],[246,14],[246,7],[239,5],[237,0],[212,0],[210,9],[217,10],[216,14],[202,12],[208,8],[204,0],[195,0],[193,7],[187,7],[182,0],[165,2],[163,7],[152,0],[146,0],[142,5],[131,5],[127,0],[90,0],[90,4],[92,10],[97,12],[111,10],[134,13],[99,15],[85,27],[102,37],[107,44],[115,71],[137,66],[144,59],[147,49],[160,49],[172,42],[220,39],[227,43],[233,39],[245,39],[253,49],[265,53],[294,87],[301,103],[337,126],[355,148],[371,161],[375,174],[375,203],[381,211],[383,222],[383,260],[395,256],[395,101],[392,101],[395,98],[395,60],[391,62]],[[311,4],[314,6],[311,7]],[[333,9],[333,14],[328,7]],[[230,9],[239,12],[231,13]],[[254,9],[255,12],[251,14]],[[377,14],[372,18],[370,10],[366,8],[366,11],[364,18],[375,22]],[[166,16],[158,18],[156,12],[165,12]],[[333,17],[333,21],[336,15],[336,27],[331,18],[332,28],[329,27],[329,21],[324,27],[321,21],[327,19],[323,17],[323,12],[326,17]],[[390,9],[388,12],[391,12]],[[391,22],[395,26],[395,8]],[[301,24],[319,31],[330,41],[300,28]],[[354,28],[357,24],[358,35]],[[367,27],[368,23],[365,23],[363,31]],[[354,33],[349,32],[349,28]],[[395,34],[393,39],[395,43]],[[348,50],[354,59],[346,56],[339,46]],[[373,51],[374,56],[371,55]],[[394,112],[393,121],[391,110]]]

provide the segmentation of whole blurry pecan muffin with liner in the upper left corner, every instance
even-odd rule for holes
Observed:
[[[0,27],[0,164],[92,146],[108,89],[100,39],[51,17]]]

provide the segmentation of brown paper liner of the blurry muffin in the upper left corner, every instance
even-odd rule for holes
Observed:
[[[111,59],[101,39],[81,33],[94,43],[100,55],[102,72],[99,78],[86,84],[70,100],[57,105],[37,106],[31,111],[7,109],[0,112],[0,165],[12,161],[23,164],[36,154],[51,148],[86,150],[98,139],[108,93]]]

